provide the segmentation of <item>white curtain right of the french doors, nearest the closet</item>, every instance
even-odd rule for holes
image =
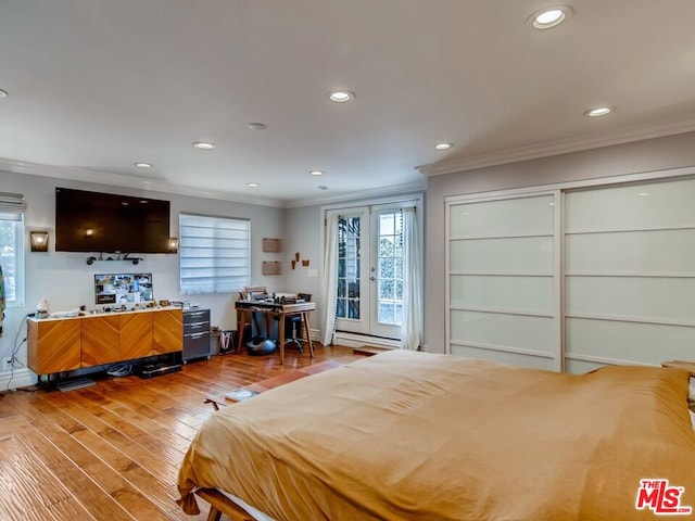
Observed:
[[[422,338],[422,260],[415,207],[403,208],[403,317],[401,348],[417,351]]]

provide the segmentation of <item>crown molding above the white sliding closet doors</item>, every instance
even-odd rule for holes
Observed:
[[[670,122],[659,125],[639,125],[619,132],[591,135],[579,138],[558,139],[530,147],[518,147],[501,150],[490,154],[471,155],[459,160],[442,161],[415,168],[426,177],[442,176],[467,171],[488,166],[505,165],[552,155],[581,152],[584,150],[599,149],[615,144],[643,141],[646,139],[664,138],[695,131],[695,118]]]

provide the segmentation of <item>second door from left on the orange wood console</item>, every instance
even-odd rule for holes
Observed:
[[[122,360],[119,348],[121,317],[89,317],[83,322],[81,367],[100,366]]]

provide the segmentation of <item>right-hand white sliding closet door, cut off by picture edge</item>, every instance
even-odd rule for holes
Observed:
[[[565,194],[569,372],[693,359],[694,201],[694,179]]]

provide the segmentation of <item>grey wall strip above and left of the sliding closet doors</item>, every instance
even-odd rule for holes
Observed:
[[[433,176],[427,181],[425,344],[444,353],[444,200],[450,195],[546,186],[695,165],[695,132]]]

